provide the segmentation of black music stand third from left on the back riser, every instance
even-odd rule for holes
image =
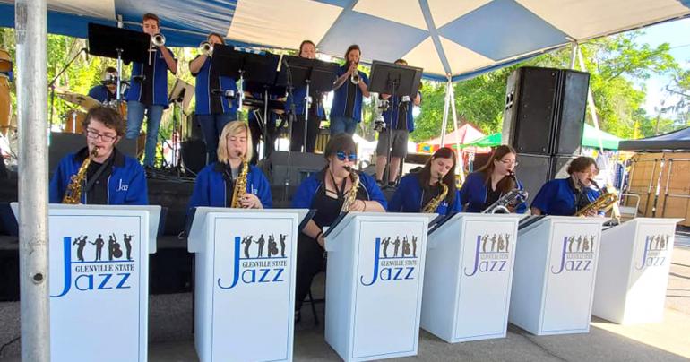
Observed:
[[[283,56],[285,69],[278,74],[279,85],[296,87],[306,85],[306,97],[299,101],[305,101],[305,132],[302,142],[302,151],[306,152],[306,124],[309,122],[309,108],[312,104],[312,94],[326,93],[333,89],[333,82],[338,78],[339,65],[323,62],[318,59],[309,59],[299,56]],[[290,94],[292,91],[290,90]],[[295,98],[292,99],[290,109],[295,112]],[[292,118],[289,122],[289,134],[292,135]]]

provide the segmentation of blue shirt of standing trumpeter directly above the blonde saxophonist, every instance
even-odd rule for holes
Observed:
[[[194,85],[196,106],[194,112],[197,115],[237,114],[239,99],[237,82],[235,82],[234,78],[217,75],[211,67],[211,57],[207,57],[206,61],[203,62],[199,73],[192,73],[192,75],[196,77],[196,84]],[[213,90],[235,90],[236,97],[235,99],[228,99],[221,95],[213,94]]]

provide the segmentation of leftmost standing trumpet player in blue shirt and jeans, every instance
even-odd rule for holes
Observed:
[[[168,108],[168,70],[177,73],[177,59],[165,47],[165,38],[160,34],[160,19],[152,13],[143,15],[143,32],[151,36],[151,62],[134,63],[132,79],[127,92],[127,132],[125,137],[135,139],[142,130],[143,115],[146,112],[146,147],[144,168],[153,167],[156,156],[156,142],[163,110]]]

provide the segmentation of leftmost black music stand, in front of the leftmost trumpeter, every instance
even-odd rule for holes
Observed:
[[[89,54],[117,59],[116,99],[122,100],[122,62],[146,62],[151,47],[151,37],[141,31],[126,30],[90,22]]]

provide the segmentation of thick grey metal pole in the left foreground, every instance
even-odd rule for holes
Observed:
[[[47,0],[17,0],[19,283],[22,361],[50,360],[47,225]]]

